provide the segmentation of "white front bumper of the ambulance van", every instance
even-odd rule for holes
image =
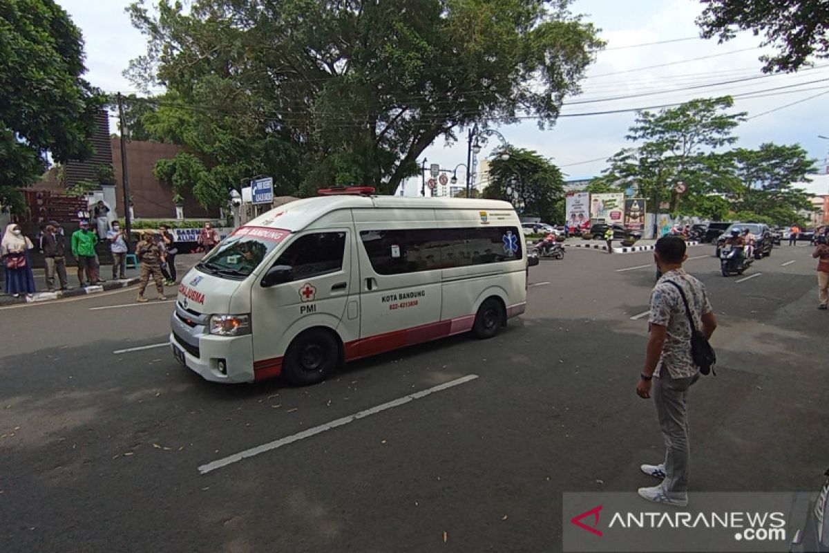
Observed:
[[[173,356],[206,381],[230,384],[255,380],[253,337],[250,334],[215,336],[207,333],[203,326],[187,325],[176,313],[172,315],[171,327]],[[225,362],[224,372],[219,370],[220,361]]]

